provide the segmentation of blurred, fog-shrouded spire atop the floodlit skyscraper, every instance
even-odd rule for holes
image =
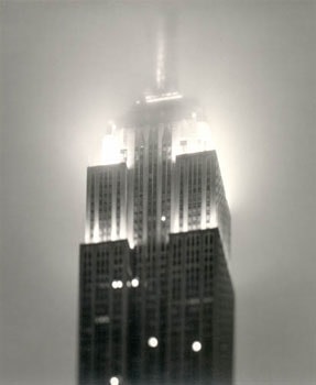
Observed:
[[[175,91],[175,9],[161,10],[156,32],[155,88],[159,94]]]

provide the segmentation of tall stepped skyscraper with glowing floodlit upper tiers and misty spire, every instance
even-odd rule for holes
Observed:
[[[203,111],[167,78],[168,25],[155,91],[88,168],[80,385],[232,384],[229,208]]]

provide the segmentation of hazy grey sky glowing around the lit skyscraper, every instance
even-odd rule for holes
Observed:
[[[316,383],[314,1],[179,1],[232,216],[236,384]],[[86,167],[150,86],[153,1],[1,1],[2,385],[75,385]]]

